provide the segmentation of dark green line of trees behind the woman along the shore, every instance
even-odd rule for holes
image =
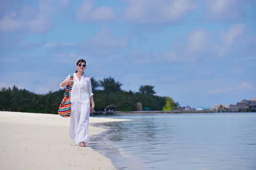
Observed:
[[[118,111],[137,111],[137,102],[154,111],[175,110],[179,107],[168,96],[157,96],[154,86],[141,85],[139,91],[123,91],[122,83],[112,77],[97,81],[91,78],[95,111],[104,111],[107,105],[117,105]],[[0,111],[58,114],[58,108],[64,96],[64,89],[36,94],[26,89],[2,88],[0,91]]]

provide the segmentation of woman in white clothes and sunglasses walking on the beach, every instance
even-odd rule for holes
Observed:
[[[81,147],[85,147],[88,142],[89,116],[94,109],[91,80],[84,74],[86,65],[84,59],[79,59],[76,63],[77,71],[74,73],[73,80],[70,80],[70,75],[68,75],[60,84],[61,88],[68,84],[72,85],[70,138],[77,146]]]

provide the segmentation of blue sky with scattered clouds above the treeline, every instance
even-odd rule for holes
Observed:
[[[0,87],[56,91],[78,59],[193,108],[256,97],[254,0],[3,0]]]

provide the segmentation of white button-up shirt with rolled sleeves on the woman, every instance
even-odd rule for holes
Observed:
[[[68,75],[64,81],[66,80],[70,80],[70,75]],[[73,81],[74,81],[74,84],[72,85],[72,90],[71,90],[71,102],[90,101],[90,96],[93,95],[90,77],[83,74],[81,77],[81,80],[79,81],[76,73],[74,73]],[[61,84],[60,84],[60,87],[61,87]],[[65,87],[61,87],[61,88],[65,88]]]

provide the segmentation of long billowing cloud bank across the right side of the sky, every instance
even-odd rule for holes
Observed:
[[[223,34],[218,31],[197,28],[184,37],[173,41],[172,48],[164,52],[156,54],[136,49],[131,51],[130,57],[136,57],[137,63],[146,64],[153,61],[160,63],[196,62],[199,60],[210,62],[217,57],[231,57],[233,54],[244,57],[245,53],[255,54],[255,52],[253,53],[255,48],[252,46],[256,39],[247,33],[246,26],[241,23],[231,25],[229,30]],[[254,57],[246,59],[254,59]]]

